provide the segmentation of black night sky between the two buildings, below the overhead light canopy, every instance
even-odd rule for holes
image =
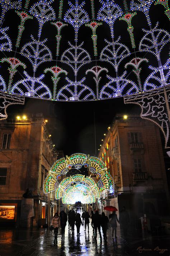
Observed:
[[[65,155],[76,152],[95,155],[94,112],[97,153],[103,134],[115,113],[140,113],[140,107],[123,103],[123,97],[94,102],[52,102],[25,98],[24,106],[10,106],[14,115],[42,112],[56,149]]]

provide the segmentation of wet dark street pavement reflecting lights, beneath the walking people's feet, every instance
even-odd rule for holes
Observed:
[[[0,229],[0,256],[8,255],[170,255],[170,236],[151,236],[150,234],[137,231],[129,231],[128,237],[124,238],[120,228],[117,229],[117,239],[112,238],[111,229],[107,232],[107,243],[103,237],[100,241],[98,236],[95,240],[91,223],[89,233],[85,226],[80,228],[80,238],[72,236],[66,226],[65,239],[61,240],[61,229],[58,231],[57,243],[54,241],[54,233],[49,229]],[[138,247],[150,249],[141,251]],[[154,250],[155,249],[155,250]],[[166,251],[159,251],[166,249]]]

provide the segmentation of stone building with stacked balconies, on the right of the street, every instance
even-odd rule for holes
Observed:
[[[167,215],[169,192],[160,131],[154,123],[137,114],[116,115],[98,157],[114,178],[114,191],[101,192],[110,205],[119,210],[126,206],[131,219]]]

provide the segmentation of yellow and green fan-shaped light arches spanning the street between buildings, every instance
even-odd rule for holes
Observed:
[[[72,173],[72,170],[81,172],[82,168],[88,175]],[[44,193],[55,191],[56,199],[62,198],[63,204],[95,203],[103,189],[114,189],[113,178],[105,163],[81,153],[57,160],[44,181]]]

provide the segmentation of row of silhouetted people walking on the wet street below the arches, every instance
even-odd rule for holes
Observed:
[[[80,213],[75,213],[74,210],[72,211],[70,210],[68,214],[68,222],[69,222],[69,230],[71,229],[72,235],[74,234],[74,228],[76,225],[77,237],[80,236],[80,226],[83,225],[84,222],[85,222],[85,231],[87,226],[88,233],[89,233],[89,223],[90,223],[89,218],[90,218],[90,215],[86,211],[83,212],[82,215],[80,215]],[[110,222],[109,222],[109,219],[110,219]],[[121,227],[123,228],[123,234],[124,236],[127,236],[129,214],[126,211],[125,207],[123,207],[122,211],[120,212],[119,220],[117,218],[117,214],[115,213],[115,211],[113,211],[112,214],[109,214],[109,219],[104,212],[100,215],[99,211],[95,211],[95,213],[91,211],[91,226],[93,228],[93,233],[95,234],[95,239],[97,238],[97,231],[99,233],[100,239],[102,239],[101,231],[100,231],[100,228],[102,228],[103,238],[106,241],[107,230],[109,228],[109,225],[112,227],[112,237],[115,236],[115,238],[117,238],[117,222],[121,223]],[[59,226],[61,226],[61,238],[64,239],[66,223],[67,223],[67,214],[64,211],[60,212],[60,216],[57,213],[55,213],[54,217],[52,218],[52,226],[54,228],[54,234],[55,234],[54,242],[57,241]]]

